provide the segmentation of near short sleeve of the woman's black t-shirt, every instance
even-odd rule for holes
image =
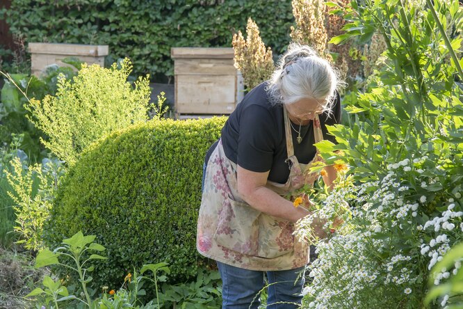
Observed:
[[[239,124],[237,163],[253,172],[270,171],[275,152],[277,125],[268,109],[250,105]]]

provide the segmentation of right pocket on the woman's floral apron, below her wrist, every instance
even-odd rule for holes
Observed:
[[[259,217],[259,249],[261,258],[277,258],[294,250],[294,224],[262,214]]]

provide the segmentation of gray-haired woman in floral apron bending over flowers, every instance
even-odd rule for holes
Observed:
[[[268,308],[301,303],[309,245],[293,231],[309,211],[288,197],[319,177],[309,167],[320,161],[314,144],[334,141],[325,125],[341,118],[338,85],[330,63],[290,45],[272,79],[245,95],[206,155],[197,250],[217,261],[222,308],[257,308],[264,275]],[[330,185],[336,171],[325,171]]]

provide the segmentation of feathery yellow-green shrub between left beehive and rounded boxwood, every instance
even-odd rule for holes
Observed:
[[[55,96],[31,100],[26,109],[31,121],[49,140],[42,143],[67,164],[101,136],[148,119],[151,90],[147,78],[139,78],[135,88],[127,81],[132,66],[125,58],[120,68],[84,64],[71,82],[58,79]]]

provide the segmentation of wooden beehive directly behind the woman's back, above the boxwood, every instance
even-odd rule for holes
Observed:
[[[180,115],[229,114],[244,95],[232,48],[175,47],[175,109]]]

